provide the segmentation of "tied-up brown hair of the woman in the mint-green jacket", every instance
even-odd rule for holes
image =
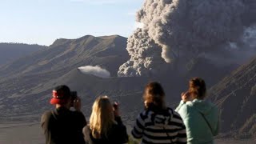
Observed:
[[[193,94],[195,98],[203,99],[206,97],[206,82],[202,78],[190,79],[190,94]]]

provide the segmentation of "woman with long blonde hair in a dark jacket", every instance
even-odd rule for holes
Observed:
[[[128,141],[126,126],[119,116],[118,103],[111,104],[107,96],[98,97],[92,107],[90,124],[83,130],[87,144],[113,143]]]

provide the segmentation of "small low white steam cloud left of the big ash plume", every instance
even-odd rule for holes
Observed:
[[[78,70],[82,74],[92,74],[100,78],[110,78],[110,72],[108,70],[102,69],[100,66],[81,66]]]

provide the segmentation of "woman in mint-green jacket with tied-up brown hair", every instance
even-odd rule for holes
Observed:
[[[205,98],[205,81],[202,78],[190,79],[189,90],[182,93],[182,101],[176,109],[185,123],[189,144],[212,144],[218,134],[218,108]]]

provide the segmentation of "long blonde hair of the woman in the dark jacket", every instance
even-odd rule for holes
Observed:
[[[90,130],[94,138],[108,136],[108,130],[115,123],[113,107],[107,96],[98,97],[92,107],[90,115]]]

